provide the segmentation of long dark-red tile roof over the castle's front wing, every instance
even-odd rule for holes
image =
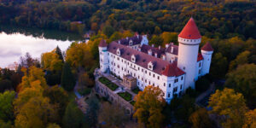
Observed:
[[[137,51],[136,49],[131,49],[125,45],[118,44],[114,41],[108,45],[108,51],[110,53],[113,53],[114,55],[116,55],[116,50],[118,48],[122,50],[121,55],[119,55],[120,57],[124,58],[125,60],[131,61],[131,55],[135,55],[136,56],[135,63],[141,67],[148,69],[148,62],[152,61],[154,63],[154,68],[153,68],[154,73],[162,74],[162,72],[166,69],[166,66],[169,64],[168,61],[163,61],[160,58],[156,58],[152,55],[148,55],[141,51]],[[173,68],[171,70],[172,72],[175,72],[174,74],[183,73],[181,72],[182,70],[179,69],[177,66],[172,66],[169,68]]]

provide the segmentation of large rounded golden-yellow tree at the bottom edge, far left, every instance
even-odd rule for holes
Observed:
[[[32,97],[16,115],[15,127],[44,128],[50,121],[55,120],[55,107],[49,103],[49,98]]]

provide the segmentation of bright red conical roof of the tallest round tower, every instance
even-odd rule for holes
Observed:
[[[182,32],[178,34],[180,38],[187,38],[187,39],[198,39],[201,38],[201,34],[198,31],[197,26],[195,25],[195,20],[190,18],[186,26],[183,27]]]

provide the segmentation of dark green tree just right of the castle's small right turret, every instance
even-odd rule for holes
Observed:
[[[221,67],[221,70],[219,70]],[[225,73],[227,72],[228,61],[221,53],[216,53],[212,58],[212,66],[210,68],[210,73],[214,78],[224,78]]]

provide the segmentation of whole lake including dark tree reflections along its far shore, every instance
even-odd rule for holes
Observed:
[[[20,61],[20,56],[29,52],[33,58],[40,58],[42,53],[49,52],[57,46],[65,51],[73,41],[83,38],[79,34],[0,26],[0,67],[8,67]]]

